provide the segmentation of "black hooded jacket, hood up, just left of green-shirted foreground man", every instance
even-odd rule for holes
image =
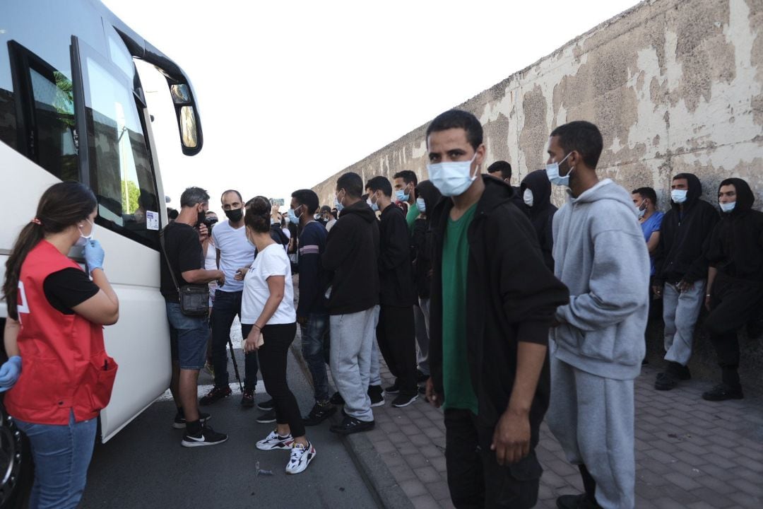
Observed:
[[[430,180],[419,182],[416,186],[417,198],[423,198],[426,212],[424,217],[414,221],[414,230],[411,235],[411,243],[414,250],[414,284],[420,298],[430,298],[432,289],[432,217],[437,202],[443,198]]]

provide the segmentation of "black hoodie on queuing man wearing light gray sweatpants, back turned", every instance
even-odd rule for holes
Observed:
[[[329,314],[350,314],[379,303],[379,227],[365,201],[345,207],[326,238],[320,261],[330,273]]]

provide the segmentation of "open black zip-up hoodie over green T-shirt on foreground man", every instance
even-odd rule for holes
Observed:
[[[520,341],[547,345],[556,308],[569,292],[543,263],[538,240],[526,214],[513,205],[509,185],[484,176],[485,192],[468,227],[466,329],[468,365],[478,401],[478,422],[493,430],[508,408],[517,374]],[[435,391],[443,393],[443,241],[452,200],[443,199],[432,216],[432,300],[430,369]],[[531,443],[549,407],[549,362],[538,382],[530,409]],[[444,395],[447,398],[447,395]],[[488,433],[492,435],[492,433]],[[491,437],[482,447],[489,447]]]

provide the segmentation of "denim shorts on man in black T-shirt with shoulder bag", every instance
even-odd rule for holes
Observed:
[[[172,361],[178,362],[180,369],[203,368],[207,360],[209,318],[186,316],[179,303],[167,302],[167,320]]]

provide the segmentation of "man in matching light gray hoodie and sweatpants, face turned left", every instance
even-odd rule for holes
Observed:
[[[546,414],[585,493],[561,509],[632,509],[633,379],[644,357],[649,253],[629,193],[596,165],[603,147],[594,124],[570,122],[549,138],[549,180],[568,186],[553,222],[554,272],[570,291],[551,332],[551,403]]]

